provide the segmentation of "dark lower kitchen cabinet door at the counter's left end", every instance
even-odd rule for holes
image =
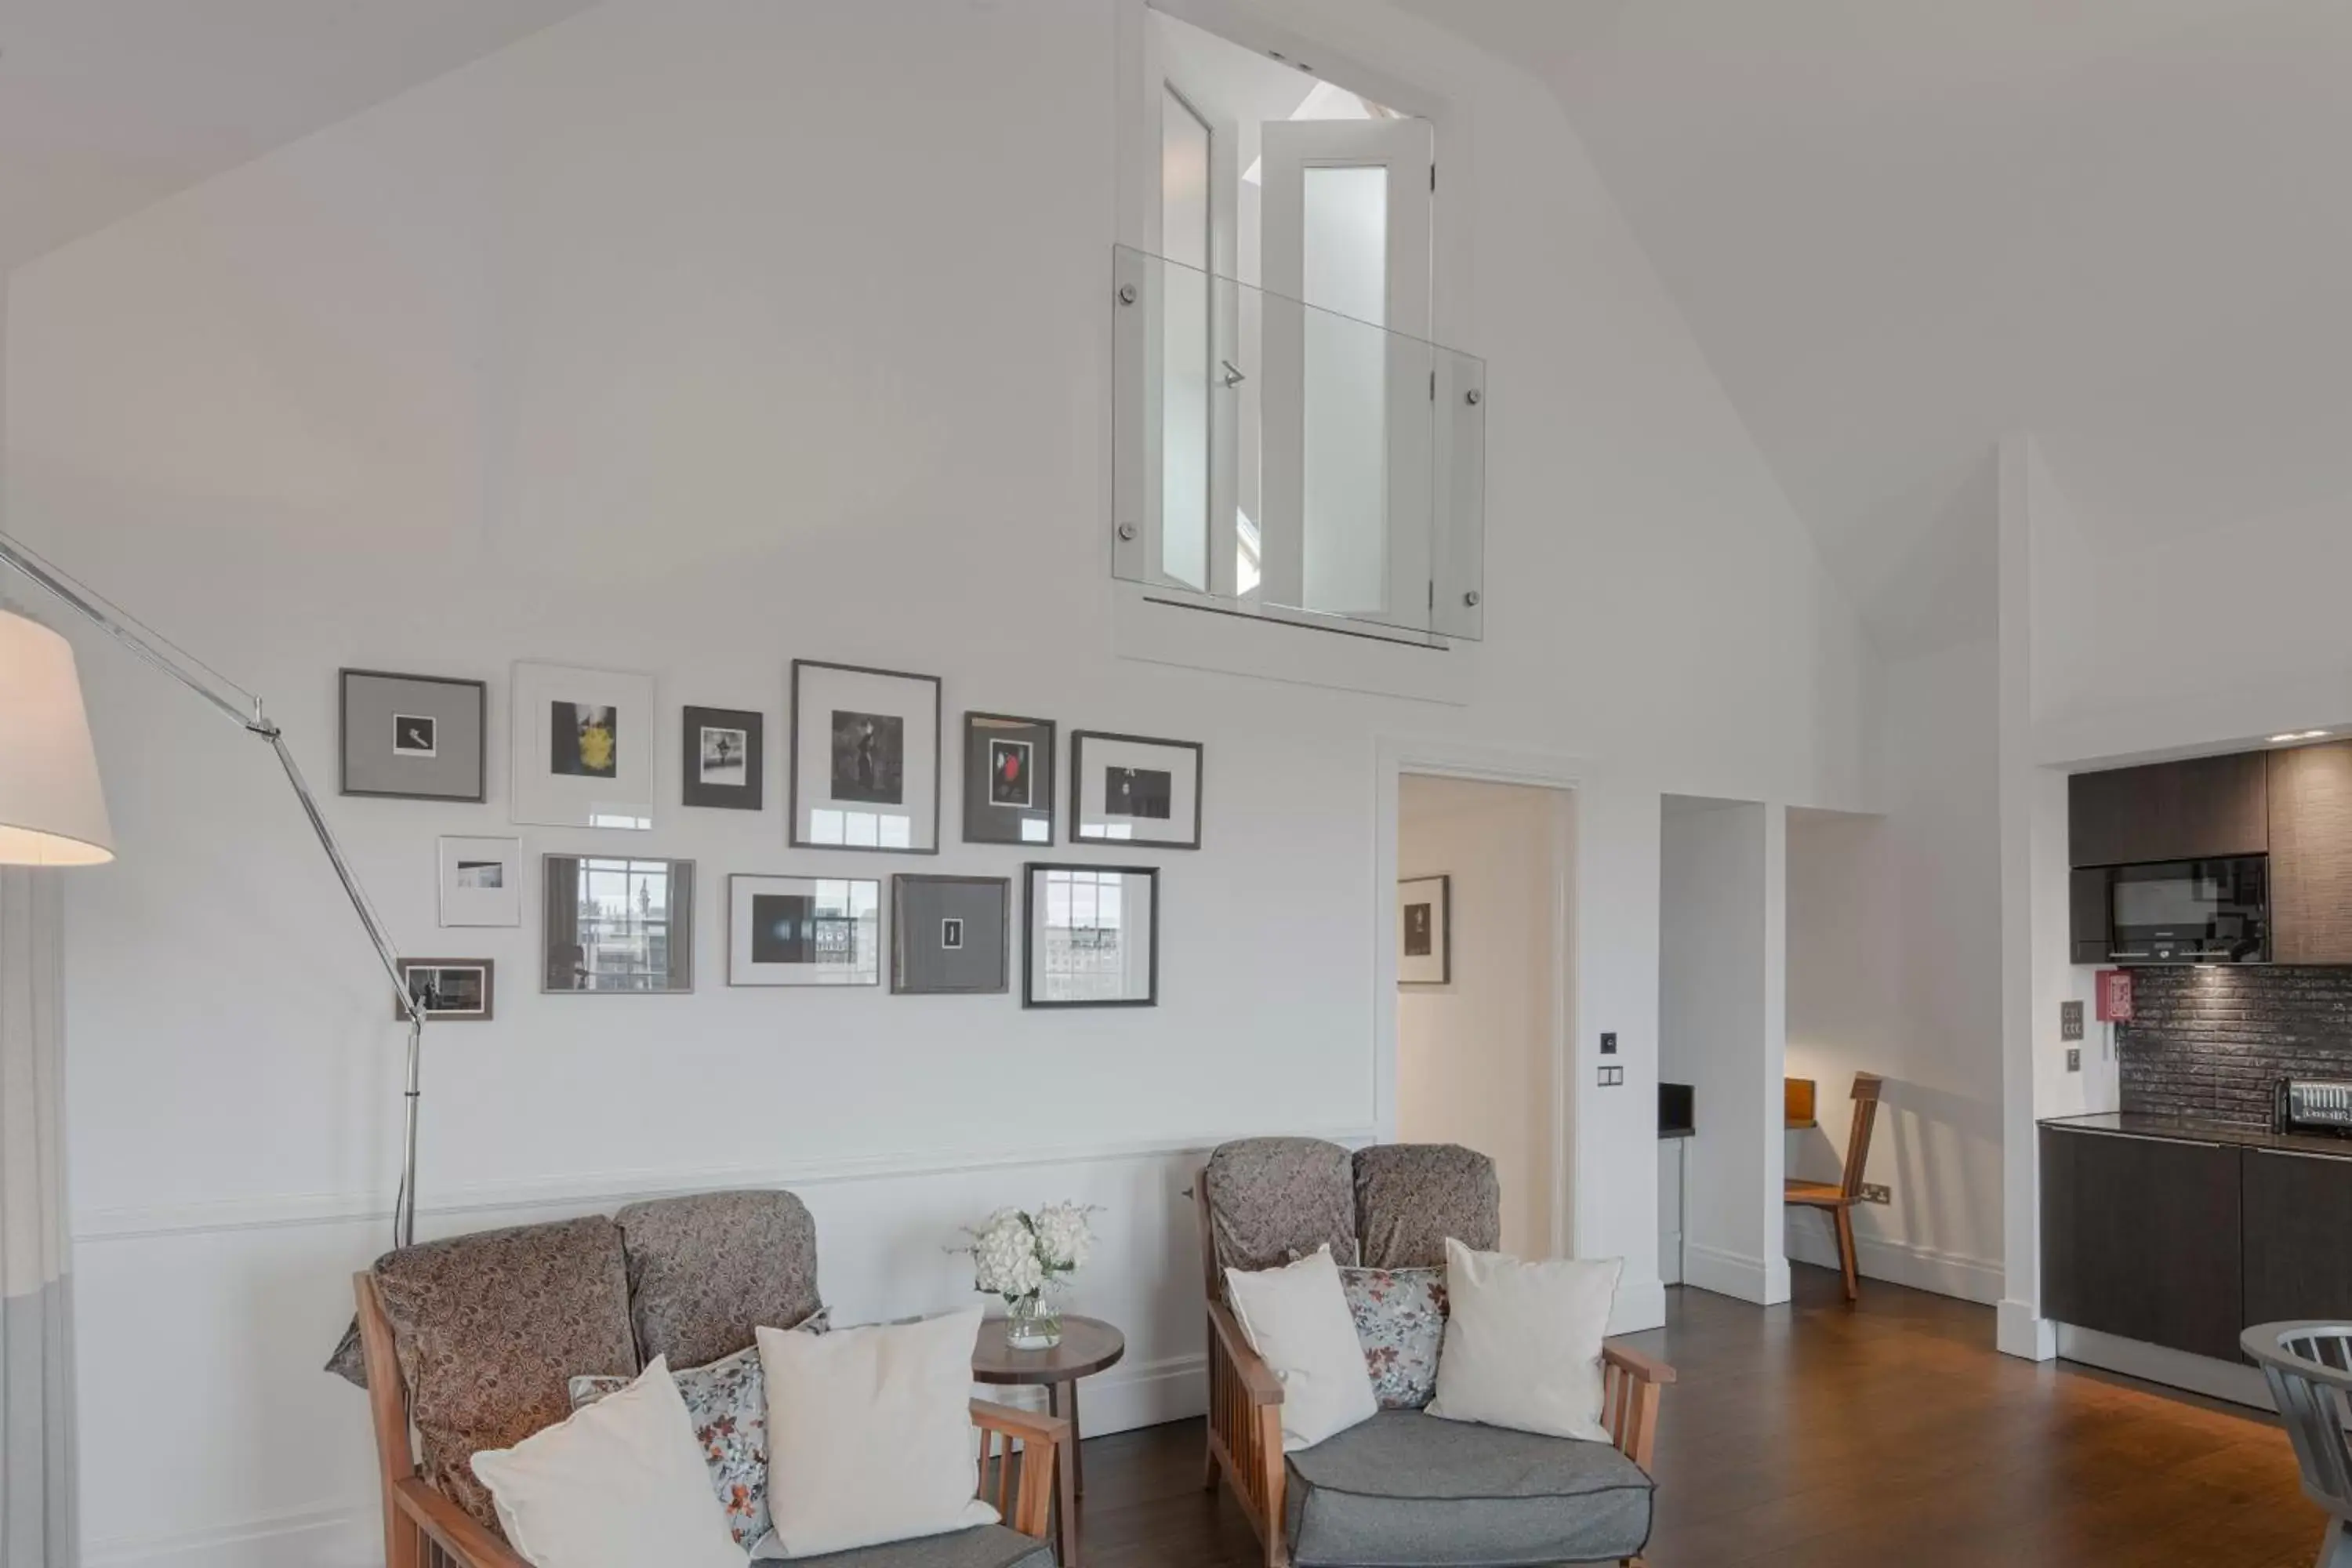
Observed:
[[[2239,1164],[2218,1143],[2044,1126],[2042,1314],[2234,1359]]]

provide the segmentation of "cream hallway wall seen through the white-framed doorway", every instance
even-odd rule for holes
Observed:
[[[1454,903],[1454,983],[1397,990],[1397,1138],[1491,1154],[1503,1251],[1550,1258],[1569,797],[1416,773],[1397,792],[1397,875],[1451,877]]]

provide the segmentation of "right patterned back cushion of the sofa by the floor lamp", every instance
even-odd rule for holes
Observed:
[[[640,1361],[703,1366],[818,1309],[816,1220],[790,1192],[699,1192],[614,1215]],[[574,1368],[588,1371],[588,1368]]]

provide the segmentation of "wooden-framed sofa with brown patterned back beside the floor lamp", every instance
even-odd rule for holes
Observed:
[[[470,1458],[572,1413],[567,1380],[701,1366],[821,1307],[816,1225],[790,1192],[708,1192],[614,1218],[492,1229],[386,1253],[353,1279],[383,1481],[386,1568],[527,1568]],[[985,1401],[981,1495],[1002,1526],[797,1559],[809,1568],[1054,1568],[1047,1523],[1068,1422]]]

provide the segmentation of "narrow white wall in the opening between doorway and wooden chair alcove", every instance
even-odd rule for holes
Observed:
[[[1684,1279],[1752,1302],[1788,1300],[1785,1004],[1771,952],[1785,907],[1778,818],[1752,802],[1670,797],[1658,893],[1658,1074],[1691,1084],[1698,1128],[1684,1175]]]

